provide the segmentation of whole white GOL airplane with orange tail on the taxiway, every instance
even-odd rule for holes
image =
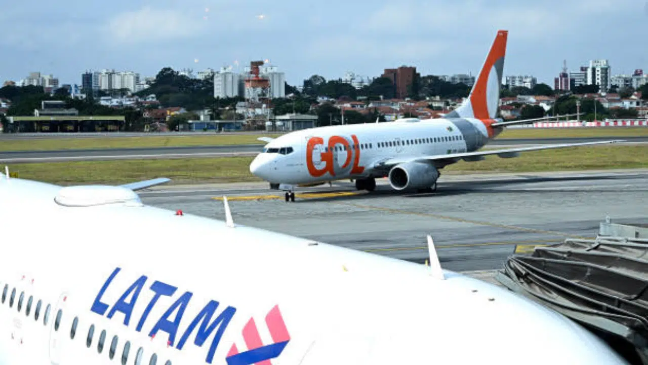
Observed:
[[[470,96],[444,118],[335,125],[290,132],[275,139],[262,137],[259,140],[269,143],[250,164],[249,171],[268,181],[270,188],[286,190],[286,201],[294,201],[297,186],[341,179],[354,180],[358,190],[372,191],[376,178],[388,177],[395,190],[432,192],[436,190],[439,170],[459,160],[473,162],[487,155],[509,158],[523,151],[618,142],[478,151],[508,125],[547,119],[496,118],[507,34],[498,31]]]

